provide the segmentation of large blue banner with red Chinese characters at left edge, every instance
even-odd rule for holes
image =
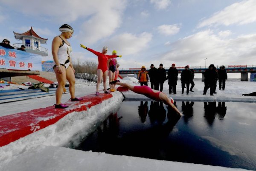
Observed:
[[[0,46],[0,68],[41,71],[41,56]]]

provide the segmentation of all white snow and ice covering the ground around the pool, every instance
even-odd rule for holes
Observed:
[[[132,85],[140,85],[136,78],[125,77],[123,82]],[[118,87],[118,86],[116,86]],[[101,85],[103,89],[103,86]],[[256,102],[256,97],[242,96],[244,93],[256,91],[256,82],[250,81],[226,81],[225,90],[218,90],[214,96],[203,95],[204,83],[195,81],[195,92],[189,95],[181,95],[180,81],[177,83],[177,94],[172,94],[174,100],[186,101],[236,101]],[[85,82],[82,79],[76,80],[76,96],[94,94],[96,84]],[[101,93],[103,90],[101,91]],[[163,92],[169,95],[167,81],[164,84]],[[131,91],[124,93],[125,97],[131,99],[147,99],[143,95]],[[84,113],[74,112],[65,116],[54,125],[48,126],[26,137],[0,147],[0,171],[113,171],[113,170],[242,170],[224,168],[209,165],[198,165],[189,163],[178,163],[172,161],[152,160],[139,157],[117,156],[92,151],[79,151],[68,149],[68,146],[76,146],[76,143],[93,132],[98,123],[104,120],[108,114],[120,107],[122,95],[119,92],[113,93],[114,100],[110,99],[102,104],[92,107]],[[64,94],[62,102],[68,101],[69,94]],[[44,108],[55,103],[55,96],[48,96],[12,103],[0,104],[0,116],[11,115],[18,112],[25,112],[31,109]]]

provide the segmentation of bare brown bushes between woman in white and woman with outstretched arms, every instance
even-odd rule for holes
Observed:
[[[73,62],[73,67],[76,70],[76,78],[83,78],[87,81],[97,82],[97,66],[98,64],[96,62],[81,62],[80,59],[77,59],[76,62]]]

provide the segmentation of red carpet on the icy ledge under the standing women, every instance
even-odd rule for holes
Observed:
[[[69,107],[66,109],[55,109],[51,106],[2,116],[0,117],[0,147],[52,125],[71,112],[86,111],[87,108],[111,97],[113,97],[112,94],[103,93],[98,96],[86,95],[81,101],[67,102]]]

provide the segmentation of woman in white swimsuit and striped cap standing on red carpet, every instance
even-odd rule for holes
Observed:
[[[75,97],[75,70],[73,68],[70,53],[72,48],[67,41],[74,32],[70,25],[64,24],[59,28],[61,35],[54,37],[52,40],[52,56],[55,62],[53,70],[58,81],[58,88],[56,90],[56,104],[55,108],[66,108],[65,104],[61,104],[61,96],[65,89],[66,79],[69,82],[69,91],[71,101],[80,101],[82,98]]]

